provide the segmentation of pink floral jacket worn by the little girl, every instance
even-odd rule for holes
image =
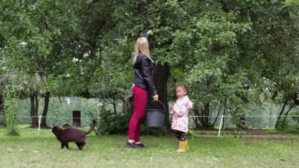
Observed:
[[[171,128],[174,130],[179,130],[181,132],[188,132],[189,124],[189,110],[193,107],[193,103],[190,101],[189,97],[183,96],[177,100],[173,107],[173,118]]]

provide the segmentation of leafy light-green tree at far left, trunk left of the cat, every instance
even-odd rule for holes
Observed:
[[[2,65],[10,78],[14,72],[29,77],[22,82],[30,97],[31,127],[37,127],[39,86],[65,56],[63,35],[75,27],[73,13],[59,0],[2,0],[0,13]]]

